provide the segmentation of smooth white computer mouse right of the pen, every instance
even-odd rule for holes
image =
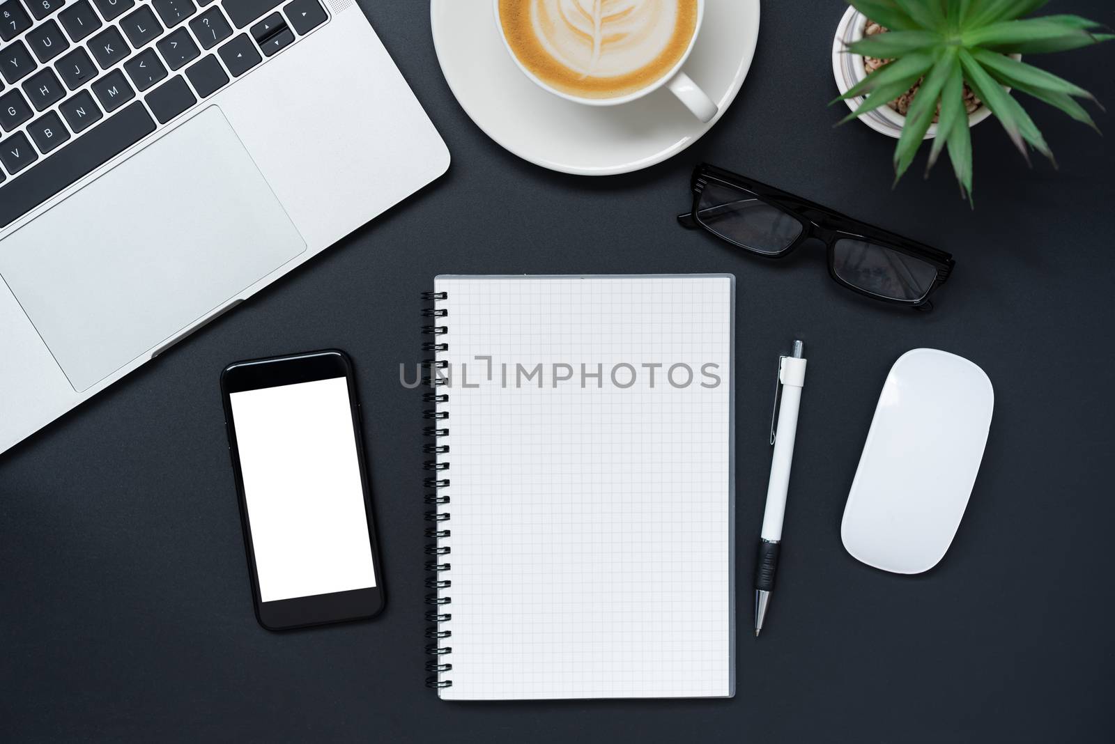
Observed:
[[[993,405],[991,381],[962,356],[914,349],[894,362],[844,507],[841,539],[854,558],[920,574],[944,557],[976,483]]]

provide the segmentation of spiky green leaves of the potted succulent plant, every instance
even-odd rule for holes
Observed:
[[[1096,131],[1077,98],[1095,97],[1068,80],[1010,55],[1037,55],[1087,47],[1115,38],[1099,23],[1079,16],[1024,18],[1048,0],[849,0],[869,19],[889,29],[849,45],[847,50],[891,60],[835,101],[866,95],[844,121],[874,110],[920,81],[894,149],[894,183],[910,167],[925,133],[938,116],[938,134],[925,173],[948,147],[961,193],[971,198],[972,147],[963,90],[991,109],[1029,163],[1027,145],[1053,153],[1034,120],[1004,86],[1037,98]],[[1103,107],[1101,107],[1103,108]],[[938,112],[939,111],[939,112]],[[842,121],[843,124],[843,121]]]

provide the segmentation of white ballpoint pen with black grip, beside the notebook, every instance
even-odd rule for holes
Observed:
[[[786,491],[789,490],[789,466],[794,459],[794,439],[797,435],[797,411],[802,404],[805,385],[805,345],[794,341],[793,356],[778,358],[778,380],[774,388],[774,411],[770,413],[770,481],[767,483],[766,510],[763,512],[763,532],[759,535],[759,555],[755,565],[755,636],[763,629],[774,575],[778,568],[778,546],[782,544],[782,521],[786,515]],[[778,393],[782,392],[782,405]],[[777,427],[776,427],[777,422]]]

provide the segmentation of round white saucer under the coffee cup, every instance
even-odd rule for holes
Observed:
[[[465,112],[492,139],[552,170],[608,176],[692,145],[739,92],[755,55],[759,0],[707,0],[685,71],[720,110],[701,124],[665,87],[620,106],[582,106],[542,90],[511,59],[492,0],[432,0],[434,47]]]

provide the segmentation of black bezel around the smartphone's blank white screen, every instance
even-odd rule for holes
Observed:
[[[255,567],[255,549],[252,545],[251,520],[248,501],[244,498],[244,478],[240,468],[240,452],[236,448],[236,428],[232,415],[231,394],[246,390],[275,388],[279,385],[329,380],[343,376],[348,385],[349,409],[352,418],[352,433],[356,437],[356,452],[360,469],[360,486],[363,490],[363,510],[368,521],[368,540],[371,545],[372,571],[376,586],[348,591],[262,601],[260,581]],[[367,619],[384,608],[384,581],[380,571],[379,544],[376,539],[375,517],[368,484],[368,468],[365,462],[362,417],[357,400],[356,379],[352,361],[339,349],[271,356],[266,359],[233,362],[221,372],[221,397],[224,402],[225,430],[229,434],[229,453],[236,481],[236,497],[240,503],[240,525],[244,536],[244,552],[248,557],[248,572],[252,585],[252,605],[255,619],[268,630],[288,630],[314,625],[328,625],[347,620]]]

